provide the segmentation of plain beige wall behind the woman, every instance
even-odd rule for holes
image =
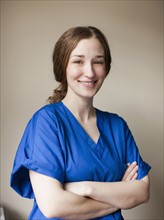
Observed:
[[[128,122],[151,164],[151,198],[125,219],[163,219],[163,1],[1,1],[1,205],[8,219],[27,219],[32,201],[9,186],[27,121],[56,87],[51,55],[77,25],[107,36],[113,64],[95,105]]]

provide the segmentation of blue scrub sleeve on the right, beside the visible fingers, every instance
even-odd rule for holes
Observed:
[[[142,159],[132,132],[130,131],[127,123],[124,120],[123,124],[125,138],[125,161],[126,163],[132,163],[134,161],[137,162],[139,166],[137,179],[142,179],[149,173],[151,166]]]

